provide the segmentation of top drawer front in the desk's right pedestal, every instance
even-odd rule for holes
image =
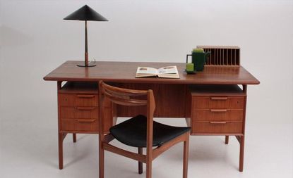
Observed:
[[[243,109],[244,96],[193,96],[194,109]]]

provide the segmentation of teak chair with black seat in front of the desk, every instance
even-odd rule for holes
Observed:
[[[137,115],[129,120],[114,125],[109,129],[109,134],[99,134],[99,160],[100,178],[104,178],[104,151],[110,151],[127,158],[138,160],[138,173],[143,173],[143,163],[146,164],[146,177],[152,177],[152,161],[168,148],[184,141],[183,177],[187,177],[189,155],[189,130],[190,127],[172,127],[153,121],[155,111],[155,98],[153,90],[133,90],[112,87],[100,81],[100,130],[103,128],[103,120],[112,119],[103,117],[104,99],[108,98],[112,103],[122,106],[146,106],[147,114]],[[126,151],[109,144],[117,139],[123,144],[138,148],[138,153]],[[153,148],[155,147],[155,148]],[[146,154],[143,155],[143,148]]]

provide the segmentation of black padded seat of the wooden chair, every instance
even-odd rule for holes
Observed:
[[[174,139],[190,127],[173,127],[153,121],[153,146],[160,146],[167,141]],[[135,147],[146,147],[147,118],[144,115],[137,115],[129,120],[114,125],[109,129],[112,136],[123,144]]]

